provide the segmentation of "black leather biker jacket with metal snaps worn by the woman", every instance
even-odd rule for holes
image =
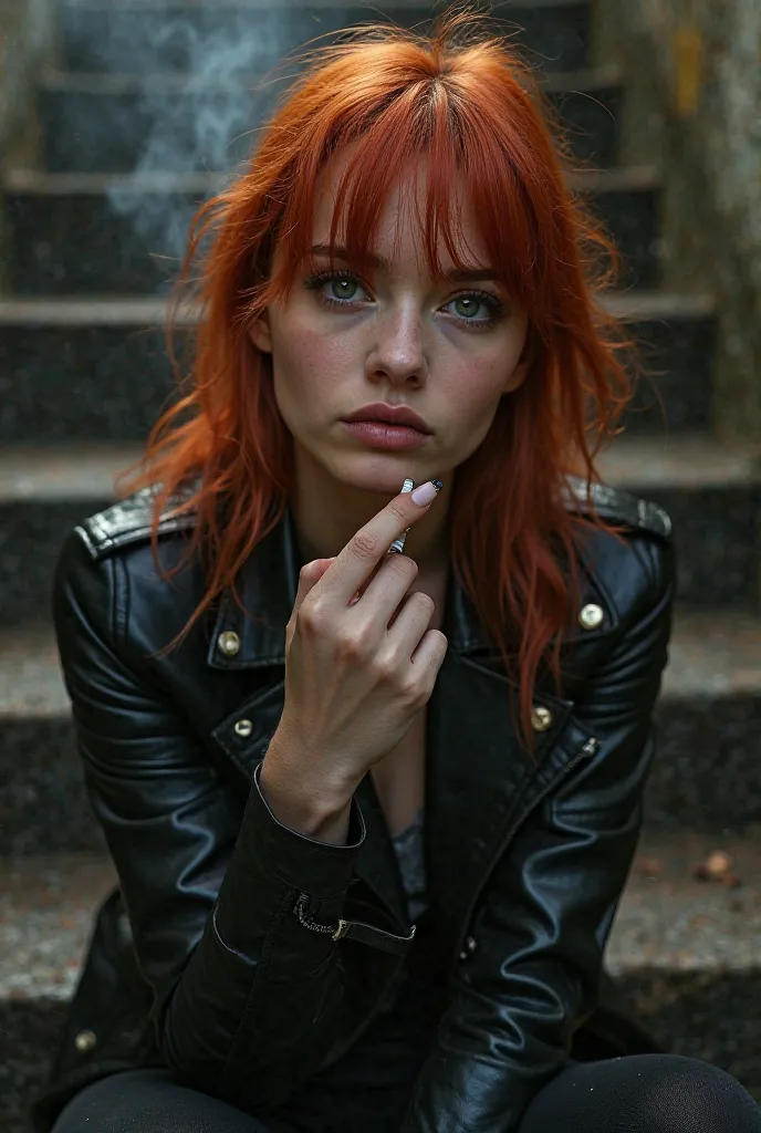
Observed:
[[[573,510],[583,509],[580,487]],[[659,1049],[617,1003],[601,961],[653,753],[670,522],[626,493],[598,485],[596,500],[629,530],[624,540],[584,536],[582,606],[599,608],[565,637],[563,696],[538,688],[533,761],[510,726],[494,642],[450,581],[426,796],[447,1003],[402,1133],[505,1133],[568,1056]],[[149,654],[186,624],[204,587],[195,565],[157,579],[149,521],[147,491],[91,517],[55,577],[66,683],[119,888],[99,911],[36,1106],[45,1133],[82,1085],[136,1065],[169,1066],[266,1116],[356,1041],[413,936],[369,775],[345,846],[281,825],[258,789],[301,566],[290,509],[241,572],[254,616],[225,597],[160,658]],[[166,566],[191,523],[162,520]],[[297,909],[331,931],[306,927]]]

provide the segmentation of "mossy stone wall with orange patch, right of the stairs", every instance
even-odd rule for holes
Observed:
[[[598,0],[629,91],[624,160],[660,168],[664,287],[720,307],[713,416],[761,438],[761,0]]]

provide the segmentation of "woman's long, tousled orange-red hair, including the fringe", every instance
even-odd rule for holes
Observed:
[[[177,489],[193,485],[180,511],[197,514],[187,555],[208,563],[206,590],[168,648],[223,589],[241,605],[236,576],[294,489],[292,436],[275,402],[272,360],[247,329],[288,297],[308,255],[317,176],[334,153],[362,139],[339,187],[330,242],[345,210],[349,256],[364,272],[387,191],[425,153],[425,249],[438,283],[439,232],[455,266],[464,266],[450,206],[454,176],[462,176],[489,262],[528,315],[531,367],[456,470],[450,554],[519,690],[519,732],[532,748],[537,680],[546,666],[559,687],[562,632],[579,600],[579,528],[619,530],[593,508],[588,517],[571,513],[563,491],[568,474],[599,478],[596,454],[631,399],[621,356],[631,343],[599,299],[619,257],[568,187],[568,143],[532,67],[507,36],[480,34],[480,18],[450,9],[428,36],[374,24],[301,57],[308,66],[279,99],[246,167],[196,213],[168,320],[182,395],[152,429],[139,471],[130,466],[117,484],[123,495],[156,485],[156,562],[160,513]],[[276,245],[284,250],[277,276]],[[200,314],[183,375],[172,342],[189,286]]]

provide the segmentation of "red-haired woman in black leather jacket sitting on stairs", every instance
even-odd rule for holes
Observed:
[[[45,1133],[761,1130],[602,974],[670,525],[599,484],[613,249],[472,18],[290,92],[196,225],[189,392],[62,550],[119,888]]]

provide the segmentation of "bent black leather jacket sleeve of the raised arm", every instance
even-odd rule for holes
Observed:
[[[258,772],[241,800],[214,769],[169,690],[130,647],[118,556],[72,534],[53,615],[85,783],[104,830],[176,1075],[234,1105],[267,1107],[319,1066],[344,1006],[340,947],[294,914],[341,917],[365,825],[347,845],[302,836],[268,809]]]

